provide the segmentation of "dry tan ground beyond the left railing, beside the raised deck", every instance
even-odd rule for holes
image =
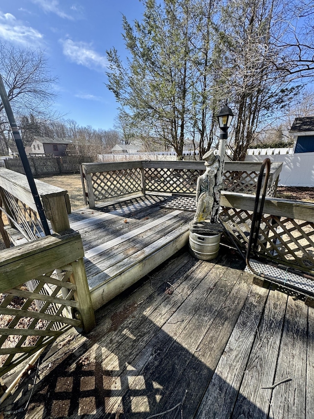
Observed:
[[[82,183],[79,174],[40,176],[37,179],[41,180],[42,182],[49,183],[50,185],[66,189],[70,197],[72,209],[85,207]]]

